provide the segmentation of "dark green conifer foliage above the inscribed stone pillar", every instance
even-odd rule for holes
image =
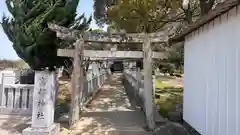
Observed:
[[[84,29],[91,19],[82,15],[75,20],[78,3],[79,0],[6,0],[12,17],[3,16],[1,25],[18,56],[32,69],[54,70],[64,65],[63,58],[57,57],[62,41],[47,24]]]

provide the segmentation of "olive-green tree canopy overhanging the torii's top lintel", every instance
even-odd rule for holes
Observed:
[[[135,29],[135,24],[187,21],[207,14],[218,0],[94,0],[94,18],[98,25],[111,24]],[[183,7],[183,5],[185,7]],[[129,25],[131,24],[131,25]],[[132,27],[133,26],[133,27]],[[156,27],[156,26],[155,26]],[[128,28],[128,27],[127,27]]]

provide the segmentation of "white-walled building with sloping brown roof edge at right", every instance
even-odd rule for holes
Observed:
[[[183,119],[201,135],[240,135],[240,6],[227,0],[190,25]]]

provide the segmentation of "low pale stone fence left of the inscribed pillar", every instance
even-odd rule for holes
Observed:
[[[28,115],[32,114],[34,85],[4,84],[0,95],[0,114]]]

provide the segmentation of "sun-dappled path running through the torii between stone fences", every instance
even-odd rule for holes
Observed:
[[[122,86],[122,75],[113,75],[85,109],[72,135],[151,135],[144,130],[143,113],[132,106]]]

